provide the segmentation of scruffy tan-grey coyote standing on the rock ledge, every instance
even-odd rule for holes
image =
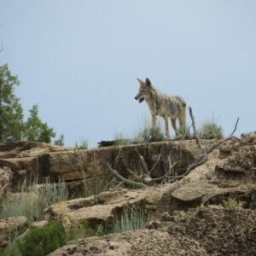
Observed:
[[[146,100],[150,113],[152,115],[152,128],[156,128],[156,116],[160,115],[165,120],[166,125],[166,137],[170,138],[168,118],[171,118],[172,127],[175,131],[176,136],[178,135],[176,119],[179,121],[181,129],[185,129],[186,119],[186,102],[180,96],[166,96],[160,91],[156,90],[151,84],[149,79],[143,82],[141,79],[137,79],[140,84],[135,99],[139,102]],[[183,130],[182,130],[183,131]]]

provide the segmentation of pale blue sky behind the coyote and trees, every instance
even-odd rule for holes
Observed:
[[[131,135],[148,115],[137,77],[183,96],[198,122],[256,130],[254,0],[1,0],[0,25],[26,114],[38,103],[67,145]]]

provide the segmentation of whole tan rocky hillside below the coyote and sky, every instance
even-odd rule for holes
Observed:
[[[201,143],[207,151],[218,141]],[[253,255],[256,134],[232,137],[190,170],[200,155],[195,140],[89,150],[1,144],[0,246],[18,240],[17,230],[61,220],[66,233],[97,230],[73,236],[50,255]],[[145,186],[125,185],[108,164],[125,181]],[[148,183],[139,179],[149,171]],[[39,211],[13,211],[12,202],[19,205],[24,195]]]

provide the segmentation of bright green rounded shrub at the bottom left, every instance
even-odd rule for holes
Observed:
[[[22,256],[44,256],[63,246],[67,241],[61,222],[51,221],[43,227],[33,227],[18,240]]]

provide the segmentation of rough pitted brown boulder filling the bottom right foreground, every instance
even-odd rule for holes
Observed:
[[[71,241],[50,253],[62,255],[254,255],[256,212],[201,207],[177,212],[135,230]],[[156,224],[157,223],[157,224]],[[156,225],[155,225],[156,224]]]

